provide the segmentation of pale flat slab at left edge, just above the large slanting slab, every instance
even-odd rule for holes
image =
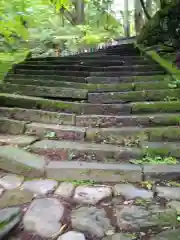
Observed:
[[[25,147],[32,144],[37,139],[38,138],[34,136],[0,134],[0,145],[15,145],[19,147]]]

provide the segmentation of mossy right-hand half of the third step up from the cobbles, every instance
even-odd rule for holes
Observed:
[[[121,127],[121,128],[88,128],[85,140],[97,143],[110,143],[123,146],[141,146],[144,141],[177,142],[180,141],[180,128],[167,127]]]

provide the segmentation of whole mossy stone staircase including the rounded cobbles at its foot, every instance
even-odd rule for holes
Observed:
[[[169,80],[133,44],[15,65],[0,85],[0,239],[179,239]],[[135,164],[147,153],[177,164]]]

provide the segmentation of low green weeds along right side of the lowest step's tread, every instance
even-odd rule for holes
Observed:
[[[142,159],[131,160],[134,164],[177,164],[177,159],[174,157],[151,156],[147,154]]]

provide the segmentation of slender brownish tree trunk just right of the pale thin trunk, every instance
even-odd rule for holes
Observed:
[[[134,8],[135,8],[135,15],[134,15],[134,19],[135,19],[135,30],[136,30],[136,35],[139,35],[141,28],[143,26],[143,9],[141,6],[141,2],[140,0],[134,0]]]

